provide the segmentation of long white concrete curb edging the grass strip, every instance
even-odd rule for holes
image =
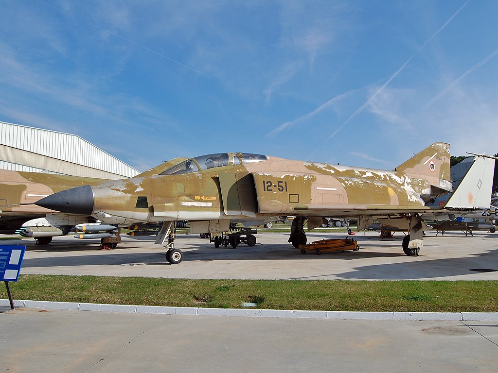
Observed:
[[[0,299],[0,306],[10,307],[8,299]],[[166,315],[282,317],[342,320],[498,321],[498,312],[299,311],[257,308],[134,306],[100,303],[47,302],[41,300],[14,300],[14,306],[27,308],[64,309],[74,311],[155,313]]]

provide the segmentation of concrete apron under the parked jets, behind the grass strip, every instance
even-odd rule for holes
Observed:
[[[308,233],[308,242],[344,238],[345,233]],[[165,260],[166,249],[153,238],[123,237],[117,249],[98,250],[98,240],[55,237],[50,245],[34,240],[2,241],[27,244],[22,274],[143,276],[189,279],[302,279],[302,280],[498,280],[498,233],[447,232],[424,238],[419,257],[401,250],[402,234],[379,238],[377,232],[355,236],[360,251],[301,254],[287,243],[286,233],[257,235],[254,247],[216,249],[198,235],[180,235],[175,244],[184,251],[179,265]],[[259,245],[259,243],[261,245]],[[472,270],[494,270],[475,272]]]

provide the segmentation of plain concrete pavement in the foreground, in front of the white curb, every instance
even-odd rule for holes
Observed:
[[[496,372],[498,324],[0,314],[0,372]]]

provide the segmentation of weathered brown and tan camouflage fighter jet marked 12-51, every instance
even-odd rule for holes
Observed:
[[[446,209],[489,203],[491,195],[484,190],[492,183],[494,160],[481,160],[479,183],[461,183],[465,187],[453,193]],[[36,204],[109,224],[163,221],[155,243],[167,240],[166,259],[177,264],[183,254],[173,247],[175,220],[189,220],[190,233],[219,233],[229,230],[231,220],[257,225],[281,215],[295,216],[289,242],[296,248],[306,243],[306,220],[311,230],[322,224],[322,217],[357,217],[362,230],[374,217],[403,216],[410,234],[402,248],[406,255],[416,255],[423,245],[420,213],[430,209],[428,202],[452,190],[450,146],[435,143],[393,171],[249,153],[210,154],[157,176],[76,187]]]

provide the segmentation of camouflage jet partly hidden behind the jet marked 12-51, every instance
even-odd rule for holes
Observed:
[[[140,177],[151,177],[187,158],[175,158],[164,162]],[[104,179],[80,178],[68,175],[0,169],[0,234],[17,234],[33,237],[40,245],[47,245],[54,236],[67,235],[75,225],[93,223],[94,217],[68,214],[34,205],[40,197],[84,185],[100,185]],[[95,227],[94,227],[95,228]],[[87,236],[91,237],[91,236]],[[95,236],[93,238],[96,238]],[[103,244],[120,242],[119,236],[102,238]]]

